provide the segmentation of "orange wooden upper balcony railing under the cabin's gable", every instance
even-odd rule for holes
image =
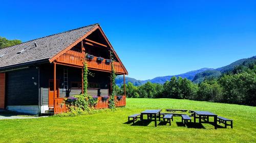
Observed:
[[[82,67],[83,59],[84,59],[83,53],[68,50],[67,52],[60,55],[59,58],[56,60],[56,62],[64,65]],[[89,69],[100,70],[100,71],[111,71],[111,64],[106,63],[105,59],[100,62],[100,61],[97,61],[97,57],[94,57],[91,60],[87,59],[87,63],[88,63]],[[121,73],[121,74],[124,73],[124,70],[119,62],[114,62],[114,67],[115,67],[116,73]]]

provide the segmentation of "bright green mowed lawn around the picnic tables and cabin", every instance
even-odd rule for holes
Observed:
[[[78,117],[0,120],[0,142],[256,142],[256,107],[177,99],[127,99],[125,108]],[[207,110],[233,119],[233,129],[203,123],[172,126],[158,121],[127,124],[145,109]],[[223,124],[222,124],[223,127]]]

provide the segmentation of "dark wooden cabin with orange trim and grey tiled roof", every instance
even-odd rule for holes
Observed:
[[[88,77],[88,94],[98,96],[95,108],[108,108],[108,100],[101,98],[110,95],[111,62],[123,80],[128,72],[100,25],[92,24],[0,49],[0,109],[64,111],[63,98],[82,92],[83,60],[93,74]],[[116,106],[125,106],[125,89],[117,96]]]

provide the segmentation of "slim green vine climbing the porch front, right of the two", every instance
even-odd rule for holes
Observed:
[[[112,62],[111,62],[111,94],[110,94],[110,99],[109,99],[109,107],[111,109],[115,108],[115,88],[116,88],[116,72],[115,72],[115,66],[114,66],[114,59],[112,56],[112,52],[110,53]]]

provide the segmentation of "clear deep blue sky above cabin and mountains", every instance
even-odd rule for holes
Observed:
[[[0,15],[0,36],[23,42],[99,23],[142,80],[256,55],[256,1],[1,1]]]

